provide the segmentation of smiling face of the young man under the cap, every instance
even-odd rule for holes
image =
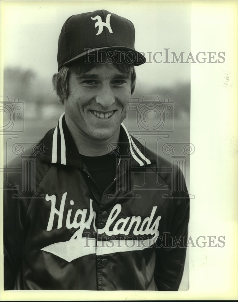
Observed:
[[[70,74],[64,100],[68,126],[91,140],[108,140],[119,131],[131,96],[129,75],[101,63],[81,76]]]

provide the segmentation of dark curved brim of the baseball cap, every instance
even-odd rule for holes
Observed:
[[[87,49],[87,50],[83,51],[82,53],[79,53],[78,55],[69,59],[68,61],[60,64],[59,69],[63,66],[67,66],[68,64],[76,61],[79,58],[82,58],[83,56],[87,56],[88,54],[91,54],[91,57],[92,57],[92,53],[96,54],[97,52],[102,52],[103,50],[105,50],[106,53],[108,53],[110,51],[123,53],[124,61],[126,61],[126,63],[128,63],[128,64],[133,64],[134,66],[139,66],[146,62],[146,58],[142,53],[140,53],[132,48],[129,48],[129,47],[122,47],[122,46],[97,47],[97,48]]]

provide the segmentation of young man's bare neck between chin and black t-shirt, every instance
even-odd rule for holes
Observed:
[[[67,122],[66,122],[67,124]],[[119,134],[120,134],[120,127],[117,129],[117,132],[108,140],[96,140],[82,131],[79,131],[79,129],[75,129],[74,127],[71,127],[70,124],[67,124],[67,127],[69,129],[69,132],[76,144],[76,147],[80,154],[86,155],[86,156],[101,156],[105,155],[110,152],[108,149],[108,146],[111,143],[114,143],[115,145],[119,142]]]

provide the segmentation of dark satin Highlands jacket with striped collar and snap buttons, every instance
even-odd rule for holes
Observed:
[[[109,149],[117,174],[102,197],[64,115],[7,165],[5,290],[178,290],[189,220],[184,176],[123,124]]]

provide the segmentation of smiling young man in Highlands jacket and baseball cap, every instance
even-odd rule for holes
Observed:
[[[184,177],[122,124],[145,63],[134,36],[105,10],[63,25],[53,85],[65,113],[5,173],[6,290],[178,290]]]

